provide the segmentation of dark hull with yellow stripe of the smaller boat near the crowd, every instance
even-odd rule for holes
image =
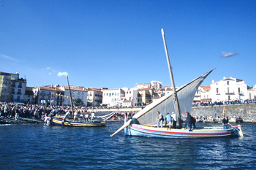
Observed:
[[[61,125],[61,119],[53,119],[53,125]],[[94,122],[74,122],[66,120],[64,122],[64,126],[73,126],[73,127],[97,127],[97,126],[105,126],[105,121],[94,121]]]

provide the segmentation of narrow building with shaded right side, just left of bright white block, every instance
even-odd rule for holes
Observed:
[[[102,91],[97,88],[88,88],[87,106],[99,106],[102,104]]]

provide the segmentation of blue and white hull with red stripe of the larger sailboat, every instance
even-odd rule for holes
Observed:
[[[238,128],[200,128],[193,131],[187,129],[154,128],[146,125],[132,124],[124,128],[124,133],[128,136],[146,136],[162,138],[205,138],[205,137],[223,137],[239,136]]]

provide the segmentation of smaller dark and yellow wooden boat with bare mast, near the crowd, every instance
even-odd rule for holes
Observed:
[[[72,102],[72,95],[69,87],[69,78],[67,77],[67,85],[69,88],[69,98],[70,98],[70,105],[71,105],[71,111],[72,115],[74,115],[74,109],[73,109],[73,102]],[[64,123],[63,123],[64,121]],[[54,125],[64,125],[64,126],[75,126],[75,127],[97,127],[97,126],[105,126],[106,120],[102,119],[101,117],[95,117],[94,120],[80,120],[80,121],[74,121],[73,119],[66,118],[64,120],[64,117],[55,117],[53,118],[53,124]]]

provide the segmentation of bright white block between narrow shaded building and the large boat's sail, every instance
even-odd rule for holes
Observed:
[[[121,107],[125,98],[124,90],[117,89],[102,89],[103,98],[102,104],[108,105],[108,107]]]

